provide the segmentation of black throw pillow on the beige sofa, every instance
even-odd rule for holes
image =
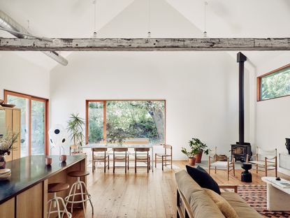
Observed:
[[[217,194],[221,194],[219,190],[219,185],[215,182],[214,179],[208,174],[206,171],[198,170],[197,168],[193,168],[191,166],[187,167],[187,173],[196,181],[201,187],[205,189],[211,189],[212,191],[217,192]]]

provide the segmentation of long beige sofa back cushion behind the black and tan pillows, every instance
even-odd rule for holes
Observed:
[[[224,218],[224,215],[219,208],[217,208],[217,205],[185,170],[175,173],[175,179],[178,189],[182,192],[182,195],[189,203],[192,212],[191,217]]]

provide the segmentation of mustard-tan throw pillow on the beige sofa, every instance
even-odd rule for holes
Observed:
[[[229,204],[229,202],[226,201],[222,196],[215,193],[215,191],[212,191],[210,189],[204,189],[206,194],[212,198],[212,201],[214,201],[217,204],[217,207],[219,210],[222,211],[224,216],[226,218],[238,218],[237,213],[235,210],[233,210],[233,207]]]

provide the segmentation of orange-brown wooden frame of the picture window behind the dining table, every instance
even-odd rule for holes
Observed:
[[[164,143],[166,143],[166,100],[165,99],[106,99],[85,101],[85,143],[89,143],[89,102],[103,102],[103,139],[107,138],[107,101],[164,101]]]

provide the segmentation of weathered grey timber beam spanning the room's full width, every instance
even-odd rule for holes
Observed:
[[[0,38],[6,51],[266,51],[290,50],[290,38]]]

